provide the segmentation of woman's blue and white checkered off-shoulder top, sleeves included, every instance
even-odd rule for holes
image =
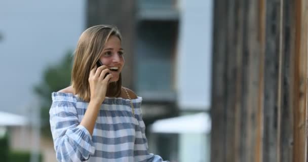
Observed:
[[[163,161],[147,152],[142,98],[106,97],[98,113],[93,136],[79,125],[88,102],[73,94],[52,93],[50,126],[58,161]]]

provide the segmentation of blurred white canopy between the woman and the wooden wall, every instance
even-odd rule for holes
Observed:
[[[160,119],[149,126],[152,133],[204,133],[211,131],[211,118],[202,112],[167,119]]]

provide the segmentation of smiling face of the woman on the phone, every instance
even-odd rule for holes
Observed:
[[[99,58],[103,65],[111,70],[113,77],[109,80],[109,83],[117,82],[119,80],[120,72],[122,71],[125,62],[123,54],[124,51],[119,37],[110,36]]]

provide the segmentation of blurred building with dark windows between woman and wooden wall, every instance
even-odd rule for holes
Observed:
[[[209,161],[209,134],[149,126],[209,110],[212,1],[92,0],[87,13],[88,27],[114,24],[122,31],[123,83],[143,98],[150,151],[170,161]]]

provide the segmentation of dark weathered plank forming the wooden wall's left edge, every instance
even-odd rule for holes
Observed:
[[[211,161],[224,162],[226,142],[225,74],[226,69],[226,0],[214,1],[213,73],[212,73],[212,132]]]

